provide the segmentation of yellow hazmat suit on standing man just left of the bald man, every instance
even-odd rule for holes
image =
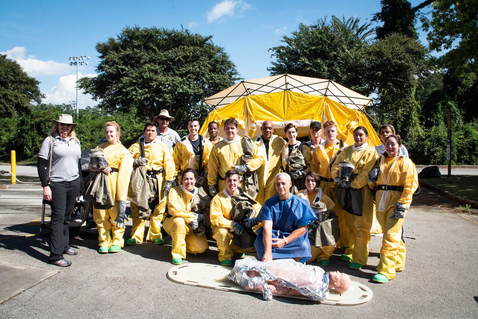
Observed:
[[[256,144],[252,144],[254,150],[252,152],[253,159],[247,163],[250,167],[250,171],[255,171],[261,167],[263,158],[257,149]],[[226,186],[226,183],[222,178],[226,172],[231,169],[232,165],[241,165],[242,164],[242,137],[236,136],[232,141],[224,139],[217,142],[209,155],[209,163],[207,164],[208,173],[207,180],[209,185],[217,184],[217,191],[223,189]],[[220,176],[220,177],[219,177]],[[244,189],[244,184],[241,182],[242,189]]]

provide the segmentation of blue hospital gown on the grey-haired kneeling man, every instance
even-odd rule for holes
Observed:
[[[311,220],[316,220],[314,211],[310,205],[302,198],[292,195],[286,201],[275,195],[264,203],[255,218],[258,222],[262,220],[272,220],[272,238],[284,238],[289,236],[299,227],[309,224]],[[257,230],[257,238],[254,242],[254,248],[257,251],[259,260],[264,256],[264,243],[262,242],[264,228]],[[302,257],[300,262],[304,263],[311,258],[310,243],[308,231],[299,238],[289,242],[282,248],[272,248],[273,259],[297,258]]]

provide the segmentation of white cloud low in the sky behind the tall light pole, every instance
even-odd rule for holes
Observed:
[[[96,77],[97,74],[81,74],[78,73],[78,78],[81,77]],[[78,90],[78,108],[84,109],[87,106],[95,106],[99,101],[91,99],[90,94],[83,94],[84,90]],[[70,101],[76,100],[76,74],[60,77],[58,83],[51,89],[50,93],[45,94],[46,98],[43,103],[52,104],[70,104]]]

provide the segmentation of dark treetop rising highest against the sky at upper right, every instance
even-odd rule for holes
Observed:
[[[400,33],[413,39],[418,39],[415,22],[420,10],[429,6],[433,0],[426,0],[412,7],[407,0],[381,0],[381,11],[373,15],[372,21],[383,22],[375,28],[377,38],[383,39],[391,33]]]

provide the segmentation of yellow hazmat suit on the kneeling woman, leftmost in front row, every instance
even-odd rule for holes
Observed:
[[[197,192],[197,187],[194,187],[194,190]],[[173,240],[173,258],[186,259],[186,253],[204,253],[209,248],[206,236],[196,236],[189,226],[194,220],[194,214],[191,212],[193,198],[194,194],[185,190],[182,185],[173,187],[168,194],[168,214],[172,217],[164,220],[164,230]]]

